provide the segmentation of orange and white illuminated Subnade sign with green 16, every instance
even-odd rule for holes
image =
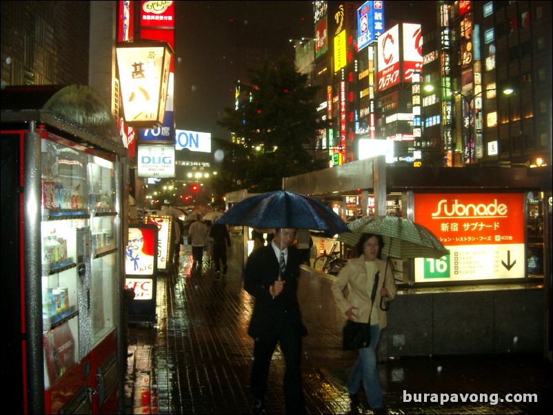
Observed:
[[[414,221],[450,251],[415,259],[415,282],[523,277],[524,217],[522,193],[415,194]]]

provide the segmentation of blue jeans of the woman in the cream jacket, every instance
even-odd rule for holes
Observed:
[[[376,346],[379,344],[380,326],[370,326],[370,347],[359,349],[359,356],[355,361],[350,378],[348,379],[348,392],[356,394],[361,387],[361,381],[365,386],[365,395],[372,409],[384,406],[382,390],[380,388],[379,370],[376,367]]]

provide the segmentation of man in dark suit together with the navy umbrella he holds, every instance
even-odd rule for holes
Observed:
[[[263,414],[263,398],[277,343],[284,355],[284,401],[287,414],[305,414],[301,386],[301,342],[307,329],[301,321],[297,290],[301,253],[296,230],[349,232],[342,219],[322,201],[306,194],[275,190],[250,196],[232,206],[219,223],[274,229],[274,239],[254,250],[244,269],[244,289],[255,298],[248,334],[254,338],[251,389],[254,414]]]

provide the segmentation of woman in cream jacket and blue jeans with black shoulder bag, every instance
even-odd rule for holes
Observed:
[[[350,372],[347,387],[352,406],[356,406],[363,381],[367,401],[376,414],[385,413],[379,371],[376,367],[376,346],[381,330],[388,324],[387,312],[379,304],[381,298],[384,302],[389,302],[396,296],[394,274],[392,268],[386,266],[386,261],[381,259],[382,248],[381,235],[361,234],[355,247],[359,256],[348,260],[332,283],[334,301],[345,317],[359,323],[370,322],[370,345],[358,350],[359,356]],[[374,302],[371,301],[373,287]]]

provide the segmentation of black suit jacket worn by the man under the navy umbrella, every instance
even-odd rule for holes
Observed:
[[[261,340],[276,339],[283,330],[294,330],[305,336],[301,321],[297,290],[301,253],[288,247],[288,260],[283,275],[284,288],[272,297],[269,287],[279,277],[279,261],[272,245],[259,247],[248,257],[244,269],[244,289],[254,296],[255,304],[248,334]]]

